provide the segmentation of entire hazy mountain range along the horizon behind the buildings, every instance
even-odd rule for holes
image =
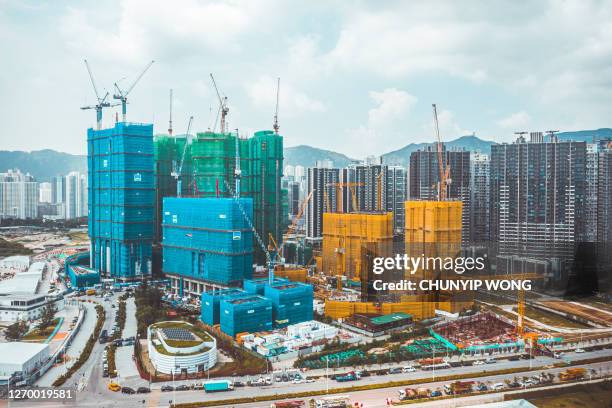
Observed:
[[[612,128],[562,132],[558,134],[558,137],[560,140],[585,142],[612,139]],[[489,153],[491,145],[495,142],[469,135],[445,141],[444,144],[447,149],[465,149]],[[428,146],[433,146],[433,143],[410,143],[401,149],[383,154],[383,163],[407,166],[410,153]],[[285,165],[292,166],[313,167],[317,161],[321,160],[331,160],[335,167],[346,167],[351,163],[359,162],[358,159],[350,158],[342,153],[307,145],[286,147],[284,155]],[[32,152],[0,150],[0,172],[14,168],[24,173],[30,173],[38,181],[49,181],[55,175],[65,175],[71,171],[87,172],[87,157],[51,149],[34,150]]]

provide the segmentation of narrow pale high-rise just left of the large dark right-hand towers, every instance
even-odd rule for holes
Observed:
[[[484,244],[489,240],[489,171],[488,154],[474,152],[470,157],[470,242]]]

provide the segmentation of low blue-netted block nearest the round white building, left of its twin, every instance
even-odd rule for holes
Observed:
[[[230,336],[272,329],[272,301],[251,295],[220,301],[221,331]]]

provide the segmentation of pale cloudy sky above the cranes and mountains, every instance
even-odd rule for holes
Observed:
[[[0,150],[85,154],[99,93],[175,134],[271,129],[353,158],[475,133],[612,126],[609,1],[0,0]],[[117,108],[104,111],[111,126]],[[218,130],[218,125],[217,125]]]

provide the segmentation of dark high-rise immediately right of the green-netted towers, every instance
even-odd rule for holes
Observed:
[[[308,169],[306,195],[312,198],[306,206],[306,237],[320,240],[323,237],[323,213],[336,212],[336,188],[340,181],[340,169],[331,167],[332,163],[317,163]]]

